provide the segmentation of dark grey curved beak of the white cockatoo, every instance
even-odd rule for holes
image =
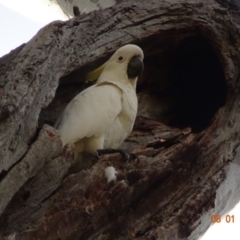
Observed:
[[[134,79],[140,77],[143,73],[144,65],[139,56],[134,56],[128,63],[127,75],[128,78]]]

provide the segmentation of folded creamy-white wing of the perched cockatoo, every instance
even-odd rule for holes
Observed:
[[[85,137],[99,137],[122,110],[122,91],[111,83],[99,83],[79,93],[65,108],[55,127],[63,145]]]

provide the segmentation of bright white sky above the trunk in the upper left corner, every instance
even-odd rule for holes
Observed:
[[[54,15],[55,11],[50,11],[50,7],[44,8],[40,4],[41,0],[31,0],[32,4],[27,5],[28,1],[0,0],[0,57],[28,42],[49,22],[57,19],[64,20],[61,14]],[[34,7],[33,3],[36,4]],[[14,10],[11,10],[11,7]],[[20,14],[20,11],[23,12]],[[35,20],[31,19],[33,15]]]

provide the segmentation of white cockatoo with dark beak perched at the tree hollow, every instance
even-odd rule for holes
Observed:
[[[136,84],[143,72],[143,51],[128,44],[89,76],[97,82],[80,92],[55,123],[63,145],[74,143],[78,153],[96,155],[117,149],[132,131],[137,115]]]

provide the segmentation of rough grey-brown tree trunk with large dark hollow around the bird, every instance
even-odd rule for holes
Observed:
[[[142,2],[53,22],[0,59],[1,239],[198,239],[239,201],[238,6]],[[121,146],[138,159],[109,154],[67,175],[74,146],[51,125],[127,43],[145,54]]]

